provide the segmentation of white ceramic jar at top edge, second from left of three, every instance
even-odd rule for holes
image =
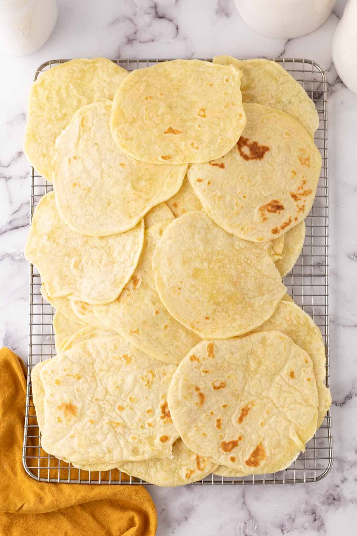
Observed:
[[[313,32],[330,16],[336,0],[235,0],[248,26],[272,38]]]

